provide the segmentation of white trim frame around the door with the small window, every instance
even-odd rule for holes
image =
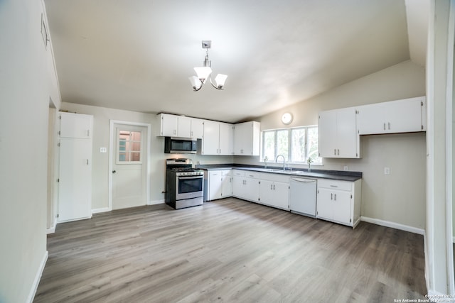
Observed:
[[[109,178],[108,178],[108,209],[112,211],[112,153],[114,148],[114,124],[124,124],[129,126],[144,126],[147,128],[147,162],[146,162],[146,197],[145,201],[150,200],[150,163],[151,163],[151,124],[140,122],[129,122],[121,120],[109,120]]]

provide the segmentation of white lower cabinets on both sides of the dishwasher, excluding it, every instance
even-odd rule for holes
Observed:
[[[289,176],[232,170],[232,183],[225,185],[223,172],[209,173],[209,200],[232,196],[289,211]],[[227,186],[228,189],[223,189]],[[318,179],[316,218],[355,227],[360,222],[362,180],[354,182]]]

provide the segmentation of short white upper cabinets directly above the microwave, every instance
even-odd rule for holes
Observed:
[[[197,138],[203,137],[203,120],[186,116],[159,114],[159,136]]]

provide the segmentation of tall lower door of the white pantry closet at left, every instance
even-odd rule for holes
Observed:
[[[92,141],[60,138],[58,221],[92,216]]]

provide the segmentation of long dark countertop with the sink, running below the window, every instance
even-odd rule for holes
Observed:
[[[196,165],[196,168],[201,170],[253,170],[255,172],[268,172],[272,174],[290,175],[295,177],[314,177],[321,179],[331,180],[342,180],[354,182],[362,179],[362,172],[350,172],[345,170],[314,170],[309,172],[306,169],[293,168],[292,170],[286,170],[285,172],[281,167],[268,167],[259,165],[240,165],[240,164],[209,164],[209,165]]]

